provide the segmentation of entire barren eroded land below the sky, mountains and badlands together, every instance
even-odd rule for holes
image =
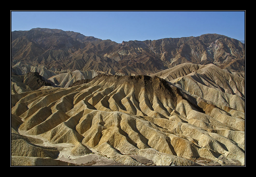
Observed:
[[[245,165],[245,44],[12,31],[11,165],[103,162]]]

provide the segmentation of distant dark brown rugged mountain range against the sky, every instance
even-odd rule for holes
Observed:
[[[231,71],[245,67],[245,44],[218,34],[118,44],[73,31],[35,28],[12,32],[11,54],[12,66],[30,62],[57,71],[95,70],[112,75],[150,75],[186,62],[214,63]]]

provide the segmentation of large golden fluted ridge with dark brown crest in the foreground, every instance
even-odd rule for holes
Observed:
[[[98,75],[69,88],[11,95],[12,117],[22,121],[17,131],[53,144],[93,147],[125,165],[140,165],[136,154],[156,165],[197,165],[199,157],[243,165],[243,108],[220,104],[143,75]]]

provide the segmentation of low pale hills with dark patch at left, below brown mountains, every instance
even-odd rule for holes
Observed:
[[[60,74],[58,74],[58,72],[52,72],[51,70],[47,70],[45,67],[35,67],[30,64],[23,64],[19,62],[11,69],[11,92],[21,93],[37,90],[42,86],[64,88],[72,85],[75,81],[79,81],[81,79],[91,79],[97,75],[99,75],[99,73],[94,70],[65,71],[65,73],[60,72]],[[44,84],[39,84],[39,82]]]

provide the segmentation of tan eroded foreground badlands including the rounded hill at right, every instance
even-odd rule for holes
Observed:
[[[18,92],[19,84],[12,166],[245,165],[244,73],[185,63],[67,88]]]

